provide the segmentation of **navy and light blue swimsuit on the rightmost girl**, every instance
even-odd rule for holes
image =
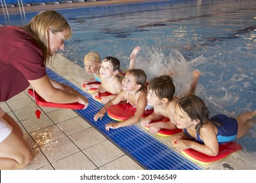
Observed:
[[[224,114],[217,114],[210,119],[210,121],[217,127],[217,140],[219,144],[224,142],[234,141],[238,133],[238,122],[234,118],[230,118]],[[183,129],[186,134],[192,137],[186,129]],[[195,139],[194,137],[192,137]],[[196,141],[203,142],[200,135],[196,133]]]

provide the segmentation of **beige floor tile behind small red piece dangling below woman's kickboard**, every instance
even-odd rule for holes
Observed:
[[[30,106],[30,107],[14,110],[14,114],[17,116],[18,120],[20,121],[27,120],[35,116],[35,108],[36,108],[36,105],[34,104],[33,106]],[[43,111],[41,112],[42,112],[41,114],[44,113]]]

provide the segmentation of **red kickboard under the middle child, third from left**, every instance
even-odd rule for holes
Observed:
[[[121,103],[112,105],[108,108],[107,113],[110,118],[116,121],[124,121],[135,114],[136,108],[130,103]],[[142,117],[152,114],[154,110],[144,110]]]

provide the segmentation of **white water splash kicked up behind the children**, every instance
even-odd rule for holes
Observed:
[[[194,69],[179,51],[169,50],[167,52],[162,48],[152,47],[142,48],[140,52],[141,54],[136,59],[136,67],[144,69],[148,80],[160,75],[170,75],[173,77],[178,97],[188,91]]]

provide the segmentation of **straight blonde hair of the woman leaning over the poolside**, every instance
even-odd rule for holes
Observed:
[[[39,12],[24,26],[24,30],[32,35],[32,39],[43,52],[44,63],[49,56],[49,31],[52,33],[67,31],[66,39],[72,37],[72,29],[66,19],[55,10]]]

